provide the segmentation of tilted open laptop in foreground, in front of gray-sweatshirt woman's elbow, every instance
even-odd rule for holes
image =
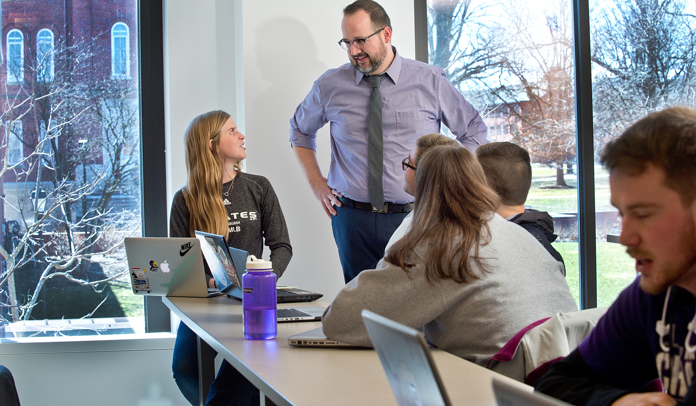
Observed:
[[[371,311],[361,314],[399,406],[452,405],[420,331]]]

